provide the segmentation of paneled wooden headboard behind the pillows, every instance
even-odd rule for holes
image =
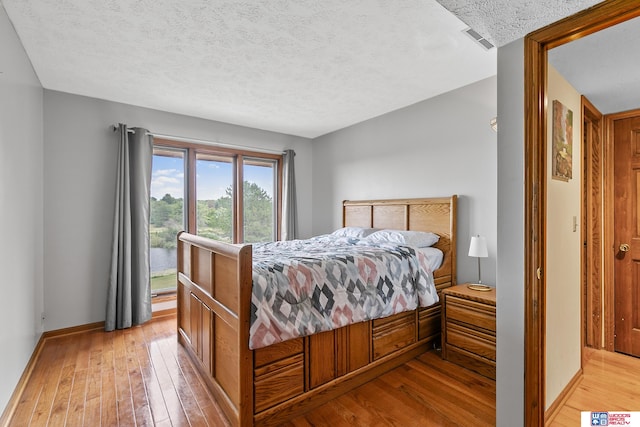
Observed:
[[[458,196],[424,199],[345,200],[345,227],[431,231],[440,236],[435,245],[444,252],[442,265],[434,272],[436,286],[456,284],[456,210]],[[438,286],[440,287],[440,286]]]

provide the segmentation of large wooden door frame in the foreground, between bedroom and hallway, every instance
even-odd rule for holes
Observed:
[[[640,16],[640,2],[611,0],[565,18],[524,39],[524,418],[544,425],[546,279],[547,51]]]

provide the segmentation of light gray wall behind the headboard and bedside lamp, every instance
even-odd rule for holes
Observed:
[[[345,199],[458,194],[458,282],[475,281],[472,234],[487,237],[496,278],[496,77],[313,140],[313,232],[338,228]]]

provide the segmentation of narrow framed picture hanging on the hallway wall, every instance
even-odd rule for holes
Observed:
[[[569,181],[573,169],[573,111],[553,101],[551,178]]]

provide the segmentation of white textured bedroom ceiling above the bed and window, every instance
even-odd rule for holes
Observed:
[[[47,89],[305,137],[495,75],[462,21],[502,45],[595,3],[0,1]]]

